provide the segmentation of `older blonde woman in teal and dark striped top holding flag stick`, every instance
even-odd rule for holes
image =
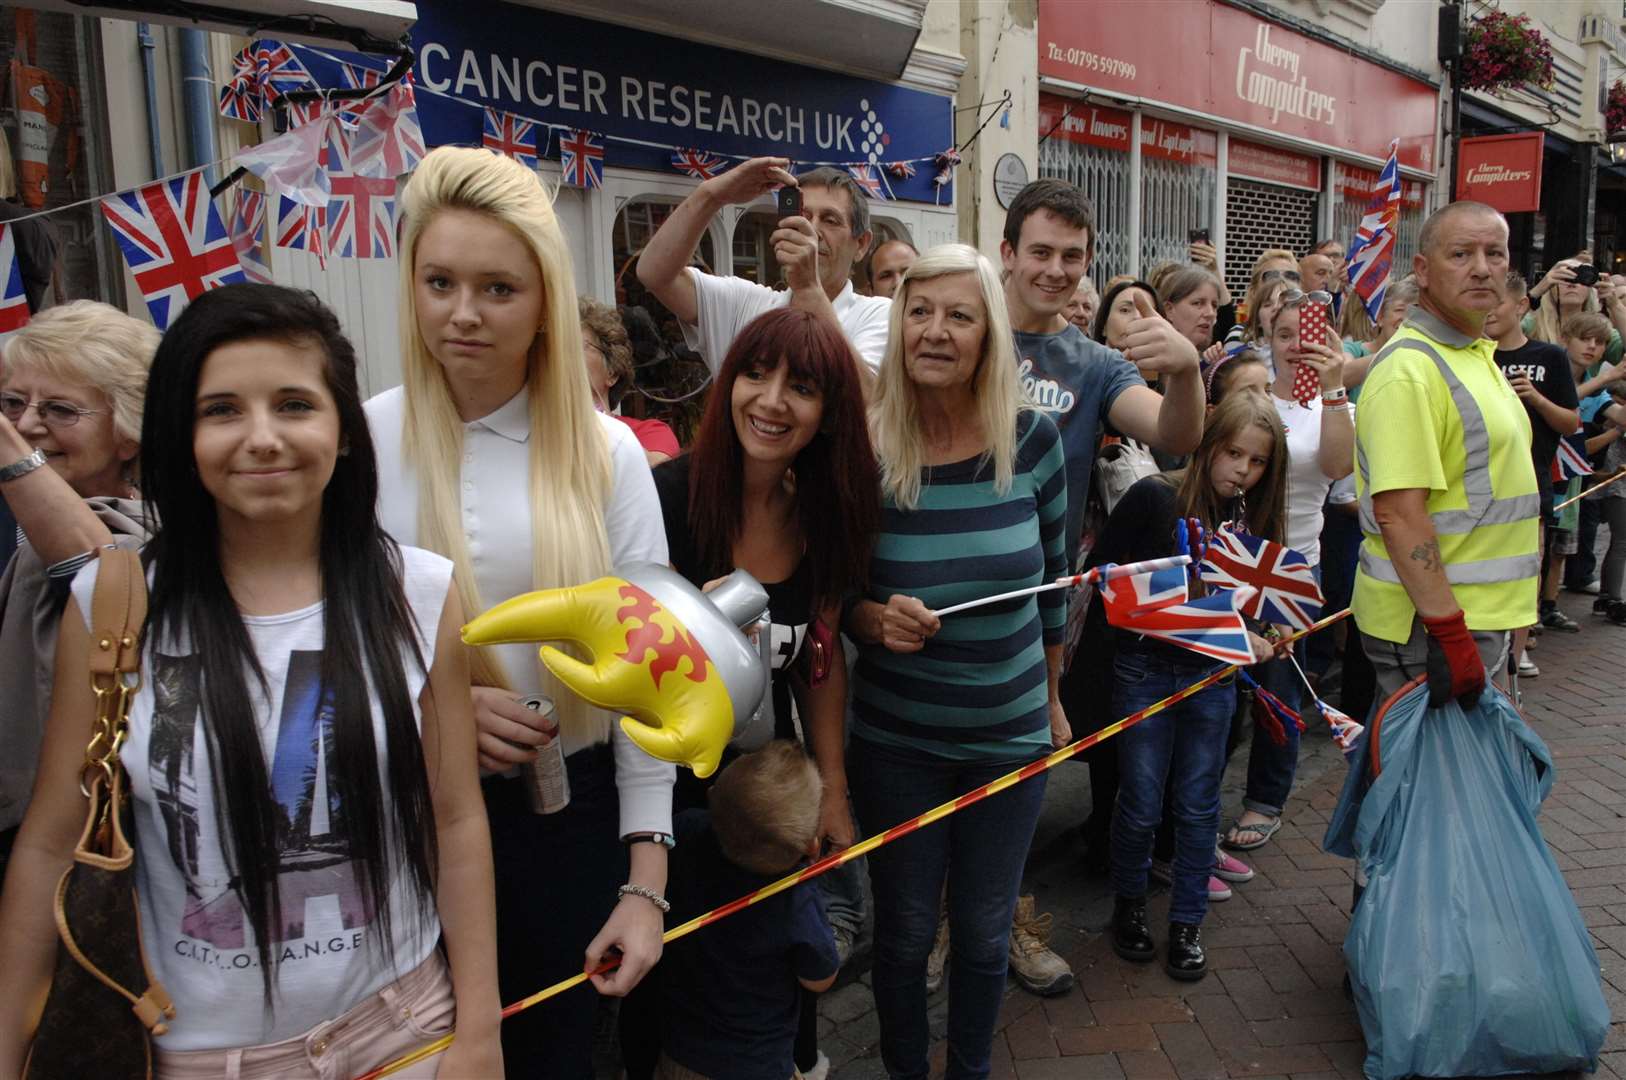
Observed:
[[[881,530],[846,626],[860,642],[847,776],[865,831],[987,784],[1070,738],[1060,592],[938,620],[933,608],[1067,573],[1055,423],[1024,402],[1005,293],[974,249],[904,275],[875,400]],[[1008,938],[1044,777],[872,857],[873,987],[891,1077],[927,1075],[925,965],[948,883],[948,1075],[989,1075]]]

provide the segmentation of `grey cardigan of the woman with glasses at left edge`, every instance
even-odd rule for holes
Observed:
[[[141,503],[106,498],[86,503],[115,540],[146,540]],[[0,831],[23,821],[34,790],[39,742],[50,712],[57,626],[73,573],[83,564],[85,560],[75,558],[47,568],[24,540],[0,574]],[[86,716],[86,738],[89,732]]]

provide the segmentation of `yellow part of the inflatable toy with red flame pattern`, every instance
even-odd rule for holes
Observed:
[[[686,764],[694,776],[717,769],[733,735],[733,703],[711,657],[672,612],[626,579],[504,600],[463,626],[463,641],[584,646],[592,664],[551,646],[541,646],[541,662],[585,701],[624,712],[621,730],[644,753]]]

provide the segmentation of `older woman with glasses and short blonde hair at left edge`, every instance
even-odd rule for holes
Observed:
[[[13,333],[0,364],[0,496],[24,543],[0,576],[0,869],[28,808],[57,623],[88,551],[145,538],[135,491],[158,330],[81,299]]]

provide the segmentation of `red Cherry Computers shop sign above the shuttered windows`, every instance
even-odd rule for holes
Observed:
[[[1434,171],[1439,91],[1218,0],[1039,0],[1039,75]]]

